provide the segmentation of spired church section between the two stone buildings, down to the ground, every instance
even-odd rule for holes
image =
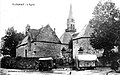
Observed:
[[[73,19],[72,16],[72,5],[70,5],[70,10],[69,10],[69,16],[67,19],[67,29],[65,29],[65,32],[63,35],[60,37],[61,43],[68,44],[68,45],[61,45],[61,50],[62,50],[62,55],[63,58],[65,59],[65,63],[70,63],[72,60],[72,35],[76,33],[76,28],[75,28],[75,20]]]

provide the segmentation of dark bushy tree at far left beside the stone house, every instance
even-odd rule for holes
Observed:
[[[10,55],[12,57],[16,56],[16,46],[19,42],[24,38],[24,34],[17,33],[14,30],[14,27],[8,28],[4,37],[1,40],[4,42],[2,47],[2,54],[3,55]]]

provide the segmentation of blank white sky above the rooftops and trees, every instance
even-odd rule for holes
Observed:
[[[60,38],[67,28],[70,4],[75,27],[81,32],[99,1],[105,0],[0,0],[0,38],[12,26],[17,32],[25,32],[27,24],[31,29],[49,24]],[[112,1],[120,7],[119,0]]]

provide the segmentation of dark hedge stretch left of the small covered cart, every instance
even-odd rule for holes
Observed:
[[[25,57],[4,57],[1,60],[2,68],[9,69],[38,69],[38,58],[25,58]]]

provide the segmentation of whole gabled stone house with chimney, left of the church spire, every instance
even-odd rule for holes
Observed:
[[[61,57],[61,44],[50,25],[40,29],[26,27],[26,37],[16,50],[16,56],[22,57]]]

